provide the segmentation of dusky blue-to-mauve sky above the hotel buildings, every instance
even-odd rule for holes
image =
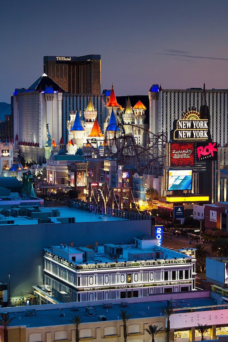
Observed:
[[[101,87],[227,89],[228,1],[1,1],[0,102],[43,74],[43,56],[101,54]]]

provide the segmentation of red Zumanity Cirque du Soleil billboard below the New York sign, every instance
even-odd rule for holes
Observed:
[[[170,166],[193,166],[194,143],[171,143]]]

